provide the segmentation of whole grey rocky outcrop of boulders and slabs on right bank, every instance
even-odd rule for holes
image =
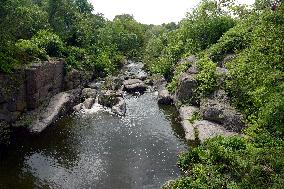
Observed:
[[[200,101],[194,95],[198,82],[196,58],[189,57],[180,62],[191,66],[178,80],[177,90],[170,94],[166,84],[159,89],[160,104],[174,104],[179,111],[181,124],[188,141],[204,142],[218,135],[238,135],[245,127],[242,115],[230,105],[229,98],[223,89],[217,89],[209,97]],[[221,77],[227,73],[222,67],[217,67]]]

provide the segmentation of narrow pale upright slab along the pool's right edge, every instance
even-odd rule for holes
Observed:
[[[194,106],[182,106],[179,109],[179,114],[181,118],[181,125],[185,131],[185,138],[189,141],[195,140],[195,130],[194,125],[190,123],[188,120],[191,118],[194,114],[194,112],[198,112],[199,109]]]

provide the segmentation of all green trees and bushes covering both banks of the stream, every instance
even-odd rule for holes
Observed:
[[[67,71],[106,75],[123,59],[143,60],[175,93],[180,76],[193,66],[183,61],[195,55],[196,98],[224,89],[247,128],[242,137],[216,137],[181,154],[183,176],[164,187],[284,185],[282,1],[256,0],[246,7],[233,0],[202,0],[178,24],[154,26],[127,14],[109,21],[93,14],[87,0],[3,0],[0,21],[1,72],[57,57],[65,59]],[[216,71],[220,64],[228,72],[224,77]]]

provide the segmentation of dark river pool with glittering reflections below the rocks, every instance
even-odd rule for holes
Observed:
[[[178,177],[177,154],[187,147],[174,109],[158,107],[152,93],[126,103],[122,118],[73,115],[22,136],[1,152],[0,189],[156,189]]]

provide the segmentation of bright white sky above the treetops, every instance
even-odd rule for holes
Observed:
[[[115,15],[132,14],[144,24],[179,22],[200,0],[89,0],[95,13],[103,13],[112,20]],[[252,4],[254,0],[238,0]]]

